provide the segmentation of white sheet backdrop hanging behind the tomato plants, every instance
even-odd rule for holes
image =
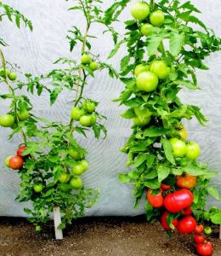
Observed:
[[[104,1],[105,7],[114,1]],[[46,73],[53,67],[53,62],[60,56],[79,58],[77,51],[69,52],[69,44],[65,39],[67,31],[72,25],[80,26],[84,29],[82,16],[77,12],[67,11],[71,2],[64,0],[8,0],[15,9],[32,20],[34,31],[22,27],[15,28],[8,20],[0,23],[1,37],[10,45],[4,48],[4,54],[8,61],[17,63],[24,73],[39,75]],[[206,22],[220,37],[221,34],[221,1],[220,0],[194,0],[196,7],[202,10],[201,19]],[[122,20],[129,17],[128,9],[122,14]],[[123,32],[123,24],[117,29]],[[113,47],[111,37],[102,35],[101,28],[95,27],[91,33],[99,37],[94,44],[94,51],[100,54],[105,61]],[[112,60],[114,67],[118,67],[119,60],[122,59],[124,50]],[[210,71],[199,71],[199,84],[202,90],[184,91],[182,98],[184,102],[201,106],[210,121],[207,127],[199,126],[195,120],[186,124],[189,130],[189,137],[201,144],[201,160],[218,171],[218,178],[213,183],[218,186],[221,192],[221,55],[213,54],[207,59]],[[96,141],[93,136],[88,140],[81,139],[83,146],[88,148],[88,160],[90,169],[84,174],[83,180],[87,186],[100,189],[99,203],[87,212],[87,215],[135,215],[143,212],[143,207],[138,211],[133,211],[133,198],[131,197],[131,187],[118,183],[117,173],[125,172],[126,155],[119,152],[119,148],[127,140],[130,134],[130,121],[122,119],[122,107],[117,108],[116,103],[111,102],[122,91],[123,86],[119,81],[111,80],[107,73],[97,73],[96,78],[91,80],[86,94],[100,102],[99,110],[104,113],[108,120],[105,125],[108,128],[108,137],[105,141]],[[3,90],[3,88],[1,88]],[[58,102],[53,108],[48,105],[48,95],[40,98],[31,96],[36,114],[43,115],[50,119],[68,120],[70,116],[72,96],[64,93],[59,96]],[[8,102],[0,102],[0,114],[8,109]],[[24,204],[14,201],[19,191],[20,178],[3,166],[4,159],[14,151],[21,142],[20,137],[7,141],[8,130],[0,129],[0,216],[25,216],[23,212]],[[212,205],[214,201],[209,201]],[[221,207],[221,203],[215,202]]]

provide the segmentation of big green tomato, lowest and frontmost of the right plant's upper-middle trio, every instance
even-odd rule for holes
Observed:
[[[150,92],[156,90],[158,78],[155,73],[147,71],[139,74],[136,83],[139,90]]]

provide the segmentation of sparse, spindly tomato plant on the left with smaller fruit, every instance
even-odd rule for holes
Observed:
[[[73,218],[84,216],[85,210],[93,207],[99,196],[99,189],[87,188],[83,183],[81,175],[89,169],[86,160],[88,151],[78,143],[78,135],[86,138],[88,131],[92,130],[97,139],[106,137],[106,118],[98,112],[99,102],[85,95],[85,88],[89,86],[89,79],[93,79],[96,72],[103,69],[107,69],[112,78],[117,77],[115,69],[101,62],[99,55],[93,52],[94,37],[90,31],[95,23],[103,24],[105,32],[111,32],[113,39],[117,39],[117,33],[111,27],[117,15],[112,17],[108,11],[104,12],[100,9],[100,3],[100,0],[79,0],[69,9],[81,13],[86,25],[84,32],[73,26],[67,35],[70,50],[80,49],[79,59],[60,57],[49,73],[40,77],[26,73],[26,80],[20,81],[16,68],[5,61],[1,51],[0,82],[8,87],[8,94],[0,96],[3,100],[11,100],[11,104],[8,113],[0,117],[0,125],[11,129],[9,138],[19,134],[23,137],[17,155],[8,157],[5,164],[14,170],[19,169],[20,195],[17,200],[31,201],[32,207],[24,211],[37,230],[41,230],[40,224],[50,220],[54,207],[60,209],[62,223],[59,229],[64,229]],[[1,7],[5,9],[9,20],[15,16],[17,26],[20,26],[22,19],[32,29],[31,21],[19,12],[2,3]],[[21,95],[20,90],[37,94],[39,101],[42,92],[46,92],[51,105],[63,90],[69,90],[72,94],[70,118],[61,123],[59,120],[52,122],[38,117],[31,100]]]

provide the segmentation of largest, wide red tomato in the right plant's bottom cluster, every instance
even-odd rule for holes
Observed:
[[[190,207],[194,201],[194,195],[189,189],[180,189],[174,193],[166,195],[164,206],[168,212],[180,212],[184,208]]]

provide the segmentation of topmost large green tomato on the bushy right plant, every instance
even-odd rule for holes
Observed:
[[[133,3],[130,9],[131,15],[136,20],[144,20],[150,14],[150,8],[147,3]]]

